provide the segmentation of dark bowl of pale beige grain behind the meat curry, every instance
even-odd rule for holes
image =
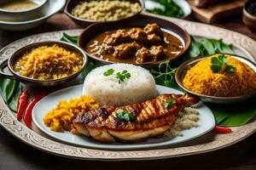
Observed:
[[[135,17],[143,11],[140,0],[69,0],[65,14],[80,26]]]

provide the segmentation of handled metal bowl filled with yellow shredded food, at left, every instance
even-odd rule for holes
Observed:
[[[84,51],[73,44],[36,42],[3,60],[0,77],[17,79],[33,87],[53,87],[78,77],[86,61]]]

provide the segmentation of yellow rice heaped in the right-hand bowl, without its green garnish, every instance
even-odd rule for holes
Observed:
[[[227,64],[236,68],[234,74],[225,71],[213,73],[211,59],[218,54],[203,59],[187,71],[183,86],[197,94],[231,97],[248,94],[256,90],[256,73],[248,65],[225,54]]]

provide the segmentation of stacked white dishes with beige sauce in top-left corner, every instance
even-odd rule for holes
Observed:
[[[7,31],[32,29],[63,8],[65,2],[65,0],[1,0],[0,29]]]

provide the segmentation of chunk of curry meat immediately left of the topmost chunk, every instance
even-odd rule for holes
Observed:
[[[127,34],[136,42],[147,42],[147,33],[141,28],[131,28]]]

